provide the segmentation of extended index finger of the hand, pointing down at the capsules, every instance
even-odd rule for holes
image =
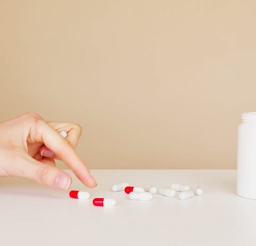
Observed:
[[[31,131],[37,135],[36,139],[42,141],[47,148],[51,149],[67,164],[83,184],[88,187],[95,187],[97,185],[94,177],[74,151],[71,144],[63,139],[54,128],[49,126],[44,120],[39,119],[36,124],[33,124]]]

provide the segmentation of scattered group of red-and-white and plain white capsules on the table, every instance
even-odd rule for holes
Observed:
[[[124,191],[125,193],[129,194],[129,199],[131,200],[150,201],[153,198],[152,194],[157,193],[157,188],[150,184],[147,186],[146,190],[147,192],[145,192],[144,188],[142,187],[129,186],[128,183],[120,183],[112,186],[113,192]],[[186,200],[193,197],[194,195],[202,196],[203,188],[202,186],[197,186],[194,192],[187,185],[173,183],[170,189],[161,188],[159,189],[158,193],[167,197],[175,197],[177,194],[180,200]],[[75,199],[89,199],[90,193],[84,191],[70,191],[69,196]],[[94,198],[93,205],[115,206],[116,200],[108,198]]]

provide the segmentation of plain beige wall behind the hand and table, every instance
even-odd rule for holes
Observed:
[[[254,0],[0,0],[0,120],[83,126],[90,168],[236,168]],[[63,167],[62,164],[59,164]]]

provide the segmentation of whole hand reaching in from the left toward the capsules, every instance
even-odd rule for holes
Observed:
[[[0,122],[0,177],[24,177],[67,190],[71,177],[55,167],[62,160],[88,187],[96,181],[74,148],[81,126],[43,120],[36,113],[25,113]],[[59,132],[66,131],[67,138]]]

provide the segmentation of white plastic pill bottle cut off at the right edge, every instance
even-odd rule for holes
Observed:
[[[243,113],[238,126],[236,193],[256,199],[256,112]]]

